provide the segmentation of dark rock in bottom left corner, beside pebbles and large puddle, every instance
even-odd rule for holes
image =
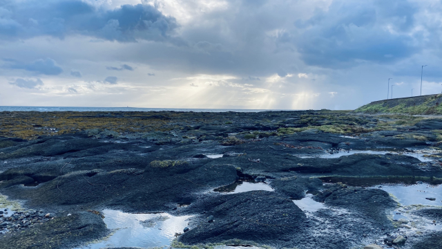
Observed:
[[[56,217],[43,225],[22,232],[4,235],[1,249],[73,248],[80,243],[92,241],[107,233],[102,218],[90,212]]]

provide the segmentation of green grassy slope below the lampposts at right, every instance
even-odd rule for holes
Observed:
[[[442,114],[442,94],[379,100],[354,110],[356,113]]]

